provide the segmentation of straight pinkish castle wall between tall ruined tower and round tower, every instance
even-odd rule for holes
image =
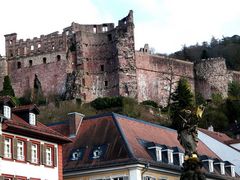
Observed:
[[[147,49],[136,52],[138,101],[153,100],[162,106],[168,103],[181,77],[187,78],[194,92],[193,63],[150,55]]]

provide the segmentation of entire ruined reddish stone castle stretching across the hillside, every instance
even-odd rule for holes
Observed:
[[[97,97],[129,96],[139,102],[154,100],[165,106],[181,77],[193,91],[209,98],[227,95],[228,83],[240,80],[221,58],[197,64],[151,55],[148,45],[135,51],[133,12],[113,23],[72,23],[62,33],[53,32],[33,39],[5,35],[6,57],[0,58],[0,90],[9,75],[15,94],[32,92],[37,75],[45,96],[89,102]]]

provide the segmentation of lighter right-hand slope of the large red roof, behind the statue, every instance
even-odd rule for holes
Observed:
[[[177,132],[173,129],[121,115],[115,115],[115,118],[136,158],[152,159],[146,149],[138,142],[138,139],[170,147],[177,146],[183,149],[177,140]],[[201,141],[198,142],[197,150],[200,155],[218,158],[218,156]]]

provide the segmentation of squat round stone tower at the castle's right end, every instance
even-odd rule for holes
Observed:
[[[224,58],[203,59],[195,64],[194,70],[195,88],[205,99],[210,99],[213,93],[227,97],[232,75],[227,70]]]

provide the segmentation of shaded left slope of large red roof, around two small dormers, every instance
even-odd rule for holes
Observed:
[[[96,145],[107,145],[104,159],[90,160],[89,154]],[[72,150],[84,148],[80,161],[70,161]],[[111,115],[94,119],[84,119],[73,143],[63,146],[64,169],[78,169],[100,166],[108,163],[129,161],[127,148]]]

